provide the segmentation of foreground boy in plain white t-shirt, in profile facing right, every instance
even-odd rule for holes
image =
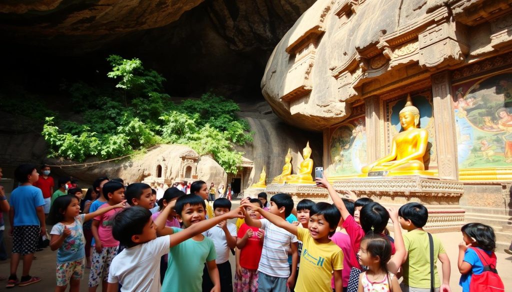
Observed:
[[[221,221],[241,217],[239,208],[219,217],[194,224],[181,232],[174,233],[165,227],[165,220],[174,208],[172,201],[153,222],[151,212],[142,207],[126,208],[114,217],[112,234],[126,246],[113,260],[109,272],[108,292],[146,291],[158,292],[161,289],[160,257],[169,248],[216,226]],[[168,235],[157,238],[160,234]]]

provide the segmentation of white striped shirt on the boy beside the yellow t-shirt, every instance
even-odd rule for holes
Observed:
[[[288,249],[292,242],[298,241],[297,237],[267,219],[260,221],[261,229],[265,230],[265,238],[258,271],[273,277],[288,278]]]

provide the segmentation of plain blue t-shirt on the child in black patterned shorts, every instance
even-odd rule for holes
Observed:
[[[9,203],[14,208],[13,226],[40,226],[35,209],[45,206],[41,189],[34,186],[19,186],[12,191]]]

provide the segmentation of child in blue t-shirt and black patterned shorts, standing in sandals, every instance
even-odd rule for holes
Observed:
[[[39,235],[46,234],[45,200],[41,190],[33,186],[39,179],[35,165],[18,166],[14,170],[14,177],[21,185],[12,191],[10,199],[12,256],[7,288],[15,285],[23,287],[41,281],[39,277],[30,276],[29,272]],[[20,254],[23,256],[23,274],[21,281],[18,281],[16,270]]]

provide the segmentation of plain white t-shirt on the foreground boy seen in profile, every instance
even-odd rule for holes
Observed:
[[[169,235],[124,249],[113,260],[109,283],[120,283],[121,292],[160,291],[160,257],[169,252]]]

